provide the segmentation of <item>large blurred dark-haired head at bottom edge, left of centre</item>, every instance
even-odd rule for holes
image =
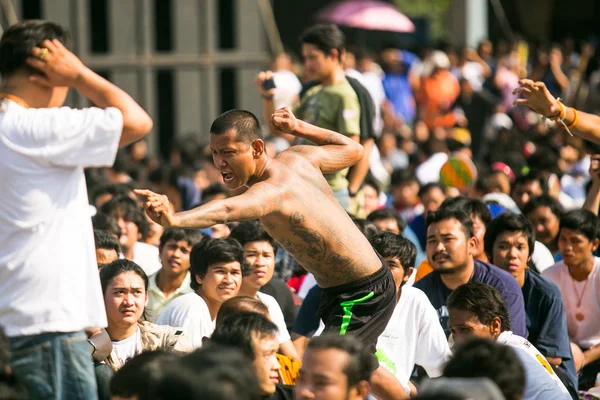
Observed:
[[[237,349],[208,344],[171,364],[156,385],[160,400],[260,400],[256,372]]]

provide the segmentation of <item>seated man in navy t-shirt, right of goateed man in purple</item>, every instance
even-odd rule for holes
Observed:
[[[527,267],[534,244],[533,227],[522,214],[499,215],[485,233],[488,257],[514,276],[523,292],[527,339],[557,368],[565,386],[576,392],[577,372],[569,346],[565,305],[558,287]]]

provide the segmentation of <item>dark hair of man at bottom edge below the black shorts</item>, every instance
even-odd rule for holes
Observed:
[[[306,351],[330,349],[341,350],[348,354],[344,374],[348,378],[349,388],[360,381],[371,381],[371,373],[377,368],[376,359],[361,341],[351,335],[325,334],[312,338]]]

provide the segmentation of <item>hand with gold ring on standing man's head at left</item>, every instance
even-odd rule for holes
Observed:
[[[31,81],[47,87],[74,86],[86,66],[60,41],[44,40],[31,50],[27,64],[40,72]]]

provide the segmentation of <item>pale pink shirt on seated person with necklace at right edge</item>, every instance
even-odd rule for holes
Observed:
[[[583,349],[589,349],[600,343],[600,258],[594,257],[594,268],[586,281],[575,281],[569,273],[569,267],[563,261],[545,270],[543,277],[556,283],[560,289],[565,311],[569,338]],[[581,297],[580,307],[577,307]],[[577,320],[577,314],[584,318]]]

